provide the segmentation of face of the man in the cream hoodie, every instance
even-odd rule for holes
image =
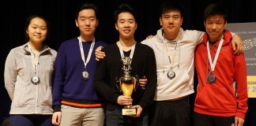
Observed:
[[[167,39],[175,39],[182,24],[183,17],[181,17],[181,13],[178,10],[162,13],[160,17],[160,25],[164,29],[164,37]]]

